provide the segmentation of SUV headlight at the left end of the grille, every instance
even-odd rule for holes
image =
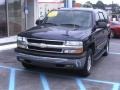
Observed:
[[[17,37],[17,47],[27,48],[27,39],[25,37]]]

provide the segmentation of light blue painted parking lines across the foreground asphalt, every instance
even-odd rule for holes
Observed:
[[[9,90],[15,90],[16,70],[17,71],[29,71],[29,70],[17,69],[17,68],[5,67],[5,66],[0,66],[0,68],[6,68],[6,69],[10,70]],[[32,72],[32,71],[30,71],[30,72]],[[71,77],[71,78],[74,78],[74,77]],[[107,84],[107,85],[109,84],[109,85],[113,85],[111,90],[120,90],[120,83],[86,79],[86,78],[78,78],[78,77],[75,78],[75,81],[76,81],[76,84],[77,84],[79,90],[87,90],[82,81],[89,81],[89,82],[95,82],[95,83],[101,83],[101,84]],[[49,83],[48,83],[45,73],[40,72],[40,82],[42,82],[43,90],[50,90],[50,86],[49,86]]]

